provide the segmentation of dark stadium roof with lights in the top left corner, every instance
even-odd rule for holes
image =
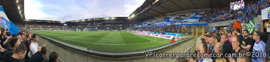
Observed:
[[[6,16],[11,21],[23,21],[24,16],[24,0],[0,0]]]

